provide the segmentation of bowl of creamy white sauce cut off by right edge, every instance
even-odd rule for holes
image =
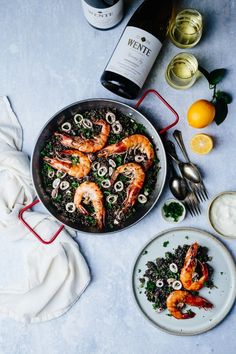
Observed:
[[[236,193],[216,198],[210,209],[210,220],[219,233],[236,237]]]

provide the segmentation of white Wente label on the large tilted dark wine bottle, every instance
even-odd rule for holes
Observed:
[[[161,47],[162,43],[151,33],[127,26],[105,70],[122,75],[141,88]]]

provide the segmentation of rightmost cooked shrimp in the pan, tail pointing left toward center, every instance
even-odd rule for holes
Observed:
[[[99,152],[98,156],[107,157],[113,154],[122,154],[129,149],[138,148],[141,153],[147,155],[147,161],[144,162],[145,169],[148,169],[154,160],[154,149],[151,142],[146,136],[141,134],[130,135],[127,138],[119,141],[117,144],[109,145]]]

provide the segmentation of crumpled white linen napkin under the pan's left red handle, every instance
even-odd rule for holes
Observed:
[[[19,210],[35,198],[21,148],[21,126],[8,99],[0,97],[0,313],[40,322],[65,313],[89,284],[90,273],[68,230],[43,245],[19,221]],[[27,211],[24,218],[45,239],[59,227],[46,214]]]

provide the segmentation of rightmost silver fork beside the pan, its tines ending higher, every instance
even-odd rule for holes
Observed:
[[[188,156],[187,150],[184,145],[183,136],[182,136],[181,131],[175,130],[173,133],[173,136],[174,136],[177,144],[179,145],[186,161],[193,166],[193,168],[198,172],[198,175],[200,177],[200,182],[198,182],[198,183],[196,183],[194,181],[189,181],[191,184],[192,190],[198,195],[198,197],[201,201],[208,199],[209,197],[208,197],[208,194],[206,191],[206,187],[204,186],[200,171],[197,168],[197,166],[190,161],[190,158]]]

